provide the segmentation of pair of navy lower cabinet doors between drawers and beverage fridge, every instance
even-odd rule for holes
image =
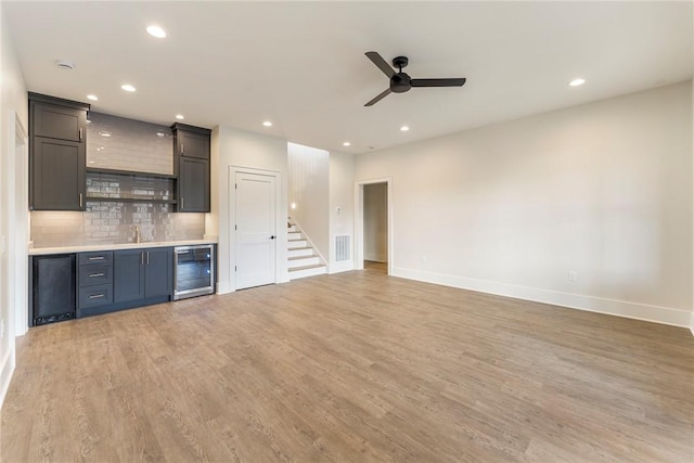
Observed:
[[[116,250],[113,273],[115,304],[169,300],[174,282],[174,249],[152,247]]]

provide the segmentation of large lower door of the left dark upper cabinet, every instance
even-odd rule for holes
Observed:
[[[35,137],[30,206],[34,210],[85,209],[85,143]]]

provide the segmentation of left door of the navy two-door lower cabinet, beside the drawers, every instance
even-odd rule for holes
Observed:
[[[113,253],[113,301],[125,303],[144,298],[144,262],[142,249]]]

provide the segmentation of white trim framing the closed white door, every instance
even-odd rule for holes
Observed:
[[[234,223],[236,222],[236,173],[250,173],[258,176],[273,177],[275,181],[275,203],[274,203],[274,227],[275,227],[275,253],[274,253],[274,283],[286,283],[290,281],[287,269],[287,237],[286,237],[286,217],[283,217],[282,207],[282,172],[277,170],[256,169],[252,167],[242,166],[229,166],[229,281],[219,282],[218,294],[233,293],[236,291],[236,272],[231,268],[236,265],[236,235],[234,230]]]

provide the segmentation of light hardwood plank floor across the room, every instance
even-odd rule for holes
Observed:
[[[321,275],[33,329],[8,462],[691,462],[687,330]]]

